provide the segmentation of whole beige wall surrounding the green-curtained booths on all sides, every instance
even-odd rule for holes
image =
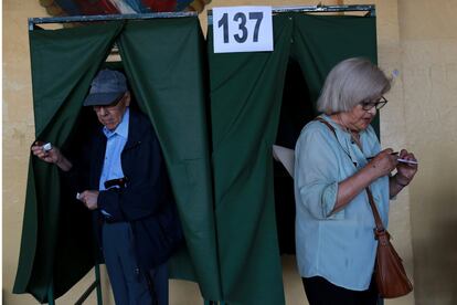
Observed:
[[[316,4],[318,1],[213,0],[212,6]],[[414,275],[415,292],[385,304],[457,304],[457,1],[322,1],[375,3],[379,63],[400,71],[381,117],[382,144],[412,149],[421,167],[415,181],[392,203],[394,244]],[[210,6],[211,8],[211,6]],[[204,12],[205,13],[205,12]],[[43,17],[38,0],[3,1],[3,301],[36,304],[12,295],[21,238],[33,113],[28,17]],[[202,27],[206,28],[205,14]],[[453,230],[454,229],[454,230]],[[414,253],[414,255],[413,255]],[[305,304],[294,257],[284,262],[287,304]],[[89,274],[59,303],[73,303]],[[114,304],[106,276],[105,304]],[[173,281],[170,304],[202,304],[196,286]],[[88,304],[95,304],[92,297]]]

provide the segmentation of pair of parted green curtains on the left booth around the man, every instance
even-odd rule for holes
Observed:
[[[70,141],[86,124],[82,103],[115,40],[134,95],[157,128],[185,231],[172,273],[221,298],[196,18],[31,32],[36,138],[77,146]],[[31,157],[14,293],[40,302],[51,285],[59,297],[94,265],[89,213],[61,187],[57,169]]]

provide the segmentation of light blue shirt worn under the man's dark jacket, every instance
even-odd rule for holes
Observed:
[[[127,107],[126,113],[124,114],[123,119],[116,127],[116,129],[109,130],[108,128],[106,128],[106,126],[103,127],[103,133],[105,134],[107,141],[105,150],[105,161],[103,164],[103,170],[98,186],[98,189],[100,191],[106,190],[105,181],[124,177],[123,166],[120,162],[120,155],[128,139],[129,117],[130,111]],[[102,213],[109,215],[104,210],[102,210]]]

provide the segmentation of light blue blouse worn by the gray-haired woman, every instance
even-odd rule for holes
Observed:
[[[301,130],[295,150],[295,199],[297,263],[302,277],[322,276],[337,286],[353,291],[369,288],[378,242],[374,219],[365,191],[344,209],[330,214],[337,201],[338,183],[380,152],[371,126],[360,133],[363,151],[349,133],[321,115],[337,132],[321,122]],[[389,177],[371,186],[384,227],[389,217]]]

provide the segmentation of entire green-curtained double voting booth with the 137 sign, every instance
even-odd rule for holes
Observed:
[[[206,42],[189,12],[30,21],[36,139],[77,151],[93,77],[106,65],[123,70],[157,132],[184,231],[171,276],[196,282],[208,304],[285,304],[280,253],[295,252],[295,207],[291,178],[274,164],[272,147],[294,148],[334,64],[376,62],[373,6],[258,12],[210,12]],[[214,52],[213,24],[222,43],[242,45],[256,27],[262,39],[266,17],[273,50]],[[121,61],[106,63],[114,46]],[[56,167],[33,156],[29,162],[14,293],[52,303],[98,262],[86,208]]]

